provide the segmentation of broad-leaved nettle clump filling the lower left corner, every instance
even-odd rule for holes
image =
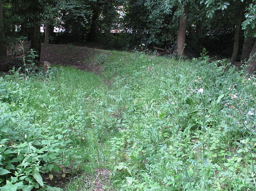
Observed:
[[[61,173],[63,177],[72,173],[71,166],[76,167],[80,157],[69,149],[70,140],[60,134],[43,134],[32,123],[35,113],[13,113],[9,103],[5,102],[4,90],[1,92],[0,189],[61,190],[45,185],[41,173],[48,173],[50,180],[54,179],[55,173]],[[12,93],[9,92],[11,98]]]

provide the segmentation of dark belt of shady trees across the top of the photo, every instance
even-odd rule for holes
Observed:
[[[1,0],[0,56],[20,38],[31,41],[38,59],[41,42],[100,42],[118,50],[143,43],[178,56],[198,57],[204,49],[231,63],[251,55],[252,73],[255,10],[255,0]]]

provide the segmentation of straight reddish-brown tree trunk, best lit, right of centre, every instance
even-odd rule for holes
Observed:
[[[178,56],[182,56],[184,53],[184,46],[185,46],[185,37],[186,37],[186,25],[188,22],[188,5],[184,6],[185,18],[180,15],[180,22],[179,22],[179,31],[178,31],[178,39],[177,39],[177,54]]]

